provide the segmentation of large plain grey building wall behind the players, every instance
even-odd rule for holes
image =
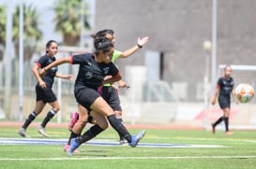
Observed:
[[[256,63],[255,6],[253,0],[218,1],[217,64]],[[202,91],[205,70],[203,42],[212,39],[212,1],[100,0],[96,30],[104,28],[115,31],[115,46],[120,50],[136,44],[138,36],[150,36],[142,51],[117,61],[124,75],[126,65],[144,63],[147,50],[158,51],[161,79],[171,85],[180,83],[186,90],[185,101],[202,99],[197,91]]]

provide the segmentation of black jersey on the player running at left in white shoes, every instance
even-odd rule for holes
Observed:
[[[51,57],[49,55],[44,55],[38,60],[38,62],[37,62],[38,67],[40,67],[40,68],[46,67],[48,64],[53,63],[55,60],[56,60],[55,57]],[[52,86],[53,86],[54,77],[55,77],[55,74],[57,71],[58,71],[58,67],[57,66],[53,67],[53,68],[47,70],[46,75],[44,77],[42,77],[42,80],[50,88],[52,88]]]

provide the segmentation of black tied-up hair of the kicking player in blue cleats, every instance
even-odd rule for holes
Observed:
[[[95,37],[94,48],[96,54],[101,50],[105,53],[108,52],[111,48],[113,48],[113,43],[111,40],[105,37]]]

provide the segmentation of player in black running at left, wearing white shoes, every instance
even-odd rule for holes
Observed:
[[[42,121],[40,127],[38,128],[38,133],[42,134],[46,137],[50,137],[49,134],[45,132],[45,126],[46,124],[53,119],[53,116],[59,111],[60,106],[57,101],[57,98],[55,94],[53,93],[52,87],[53,87],[53,81],[54,77],[60,77],[65,79],[72,79],[71,75],[61,75],[59,74],[58,68],[53,67],[50,69],[47,74],[44,77],[40,77],[38,74],[38,69],[44,68],[50,63],[53,63],[56,59],[54,55],[58,51],[58,44],[54,40],[50,40],[46,44],[46,54],[38,60],[38,62],[35,63],[35,65],[32,68],[32,72],[34,76],[38,80],[38,84],[36,86],[36,93],[37,93],[37,105],[36,108],[33,110],[33,112],[28,116],[28,118],[24,121],[23,127],[19,130],[18,134],[22,135],[23,137],[27,137],[26,134],[26,128],[29,126],[29,124],[35,120],[44,108],[46,104],[48,103],[50,106],[53,107],[52,110],[50,110],[45,117],[45,119]]]

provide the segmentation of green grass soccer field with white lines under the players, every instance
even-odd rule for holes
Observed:
[[[66,128],[49,127],[53,139],[68,138]],[[1,127],[0,138],[21,138],[17,127]],[[130,129],[131,134],[140,130]],[[44,139],[35,127],[28,129],[32,138]],[[0,144],[1,168],[256,168],[255,131],[146,130],[143,143],[174,145],[208,145],[219,148],[130,148],[128,146],[83,145],[80,153],[68,156],[64,145]],[[117,141],[112,128],[99,134],[97,140]]]

